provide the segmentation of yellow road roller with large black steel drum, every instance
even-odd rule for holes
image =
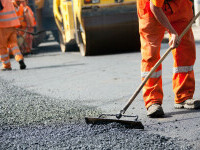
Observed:
[[[82,56],[138,51],[136,0],[53,0],[63,52]]]

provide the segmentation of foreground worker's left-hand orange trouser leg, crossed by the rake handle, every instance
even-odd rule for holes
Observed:
[[[165,29],[153,17],[139,19],[141,40],[142,80],[160,58],[160,47]],[[162,104],[162,66],[160,65],[143,87],[143,98],[148,108],[152,104]]]

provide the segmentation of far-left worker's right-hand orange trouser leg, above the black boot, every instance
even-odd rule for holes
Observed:
[[[20,60],[23,60],[24,59],[23,55],[21,54],[18,44],[17,44],[17,32],[14,28],[12,28],[12,32],[11,32],[8,42],[9,42],[8,44],[10,45],[11,53],[15,57],[15,60],[18,62]]]

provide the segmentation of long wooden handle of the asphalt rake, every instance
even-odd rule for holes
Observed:
[[[195,22],[195,20],[199,17],[200,15],[200,11],[193,17],[193,19],[190,21],[190,23],[187,25],[187,27],[183,30],[183,32],[180,34],[179,36],[179,41],[182,39],[182,37],[185,35],[185,33],[191,28],[192,24]],[[145,79],[142,81],[142,83],[140,84],[140,86],[137,88],[137,90],[135,91],[135,93],[131,96],[131,98],[128,100],[128,103],[126,104],[126,106],[123,108],[123,110],[121,110],[121,114],[124,114],[126,112],[126,110],[128,109],[128,107],[131,105],[131,103],[134,101],[134,99],[136,98],[136,96],[139,94],[139,92],[141,91],[141,89],[143,88],[143,86],[145,85],[145,83],[147,82],[147,80],[150,78],[150,76],[153,74],[153,72],[158,68],[158,66],[163,62],[163,60],[166,58],[166,56],[173,50],[173,48],[169,47],[167,49],[167,51],[164,53],[164,55],[158,60],[158,62],[154,65],[154,67],[151,69],[151,71],[149,72],[149,74],[145,77]]]

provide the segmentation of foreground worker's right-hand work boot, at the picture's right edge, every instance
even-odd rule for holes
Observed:
[[[186,108],[186,109],[200,109],[200,100],[188,99],[182,103],[174,104],[176,109]]]

